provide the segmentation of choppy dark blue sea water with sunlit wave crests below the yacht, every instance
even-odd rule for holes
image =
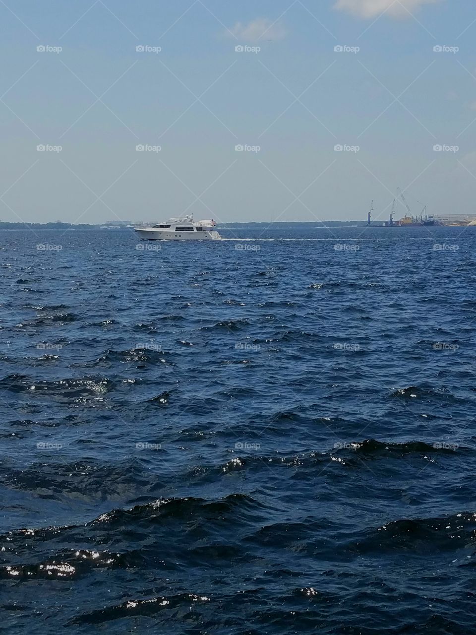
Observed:
[[[0,631],[473,632],[476,227],[222,234],[0,232]]]

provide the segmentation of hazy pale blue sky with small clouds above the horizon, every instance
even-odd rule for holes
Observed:
[[[364,220],[371,199],[386,219],[398,186],[415,212],[476,213],[474,0],[4,0],[0,19],[1,220]]]

